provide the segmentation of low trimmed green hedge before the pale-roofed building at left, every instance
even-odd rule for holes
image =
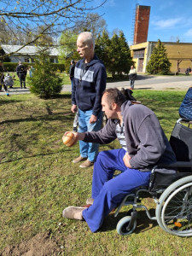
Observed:
[[[34,63],[22,62],[24,66],[30,67],[34,66]],[[17,62],[3,62],[4,69],[9,72],[15,72],[16,67],[18,66]],[[65,65],[60,63],[51,63],[54,71],[63,72],[65,71]]]

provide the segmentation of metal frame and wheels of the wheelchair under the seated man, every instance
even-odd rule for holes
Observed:
[[[176,124],[182,122],[192,124],[191,121],[186,119],[178,119]],[[114,214],[115,217],[123,206],[132,206],[132,209],[127,212],[127,216],[121,218],[117,224],[116,230],[119,235],[130,235],[137,228],[137,209],[144,209],[148,218],[157,220],[162,230],[176,236],[192,236],[192,161],[191,159],[188,162],[177,161],[170,166],[159,167],[189,167],[190,172],[169,173],[168,179],[172,177],[174,182],[166,188],[153,190],[155,175],[157,175],[158,180],[158,174],[156,174],[158,166],[154,166],[148,187],[140,187],[133,193],[126,195],[117,208]],[[139,195],[143,192],[153,197],[156,203],[155,216],[151,216],[148,208],[140,203]]]

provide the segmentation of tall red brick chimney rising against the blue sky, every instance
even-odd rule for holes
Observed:
[[[150,6],[137,5],[133,44],[147,42]]]

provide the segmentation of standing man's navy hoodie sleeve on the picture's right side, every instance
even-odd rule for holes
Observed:
[[[93,114],[98,115],[101,111],[102,92],[106,89],[107,74],[105,67],[101,65],[96,73],[96,101],[93,107]]]

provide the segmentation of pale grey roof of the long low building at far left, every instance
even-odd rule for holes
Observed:
[[[38,47],[37,46],[32,46],[32,45],[27,45],[24,48],[20,49],[22,45],[8,45],[8,44],[3,44],[1,45],[3,48],[4,52],[6,54],[14,52],[14,55],[37,55],[38,54]],[[18,51],[18,49],[20,49]],[[54,47],[49,47],[50,53],[49,55],[53,56],[58,56],[59,51],[58,49]]]

